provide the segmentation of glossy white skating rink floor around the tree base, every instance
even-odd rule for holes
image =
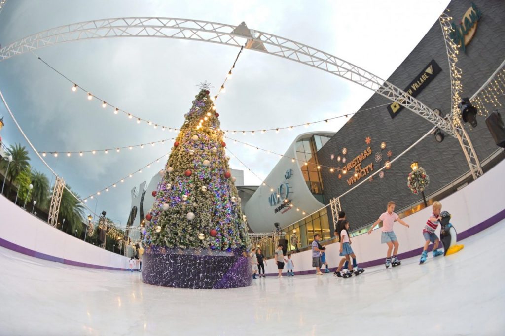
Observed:
[[[348,279],[267,277],[228,290],[156,287],[139,272],[0,248],[0,334],[504,335],[503,241],[505,220],[461,242],[454,255],[429,253],[424,265],[415,257]]]

